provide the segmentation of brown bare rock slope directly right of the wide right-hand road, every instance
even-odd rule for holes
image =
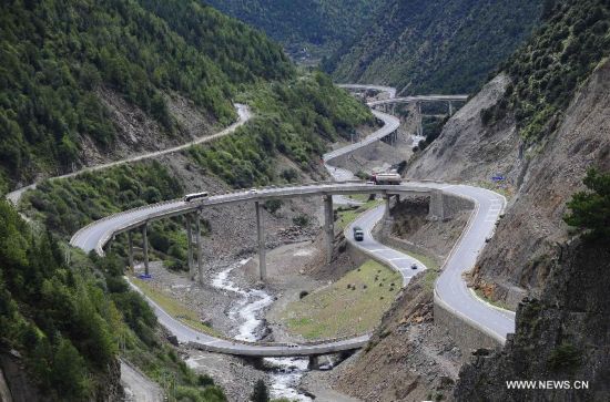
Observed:
[[[587,168],[610,168],[610,62],[592,74],[566,111],[558,131],[521,165],[519,186],[496,237],[479,260],[477,285],[505,278],[496,298],[515,303],[515,286],[539,295],[556,244],[566,240],[566,202],[582,189]],[[522,178],[521,178],[522,177]]]

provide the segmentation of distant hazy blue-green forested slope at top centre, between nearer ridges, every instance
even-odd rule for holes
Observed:
[[[356,38],[379,1],[374,0],[204,0],[265,31],[295,59],[331,55]],[[308,58],[306,56],[306,58]]]

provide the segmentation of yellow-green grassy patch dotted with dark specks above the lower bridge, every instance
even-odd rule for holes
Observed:
[[[282,319],[289,332],[305,339],[364,333],[377,326],[401,285],[398,272],[368,260],[335,284],[289,303]]]

